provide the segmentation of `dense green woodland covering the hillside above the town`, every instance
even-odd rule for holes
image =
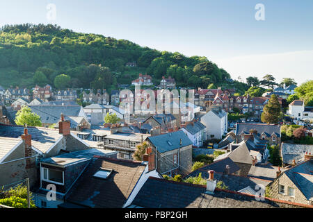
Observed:
[[[125,66],[136,62],[137,67]],[[128,40],[76,33],[56,25],[6,25],[0,30],[0,77],[4,87],[50,84],[57,88],[118,88],[139,73],[150,74],[158,85],[172,76],[179,87],[248,86],[234,81],[206,57],[157,51]],[[4,78],[3,78],[4,77]]]

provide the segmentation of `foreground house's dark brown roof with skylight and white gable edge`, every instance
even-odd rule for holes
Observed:
[[[147,162],[96,155],[65,196],[65,203],[58,207],[122,208],[152,176],[162,178]]]

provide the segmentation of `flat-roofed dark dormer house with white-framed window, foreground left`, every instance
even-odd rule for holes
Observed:
[[[40,208],[57,208],[73,191],[73,186],[93,162],[93,157],[116,157],[116,153],[97,148],[63,153],[40,160],[40,185],[34,192],[35,205]],[[49,188],[56,187],[56,200],[47,200]]]

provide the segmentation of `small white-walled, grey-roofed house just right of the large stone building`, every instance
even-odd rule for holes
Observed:
[[[191,142],[193,142],[193,146],[203,146],[203,142],[207,140],[207,128],[199,121],[187,123],[182,130]]]

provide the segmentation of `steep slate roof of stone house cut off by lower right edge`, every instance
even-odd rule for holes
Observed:
[[[284,171],[284,173],[294,182],[307,200],[313,198],[313,160],[307,160],[298,164]]]

